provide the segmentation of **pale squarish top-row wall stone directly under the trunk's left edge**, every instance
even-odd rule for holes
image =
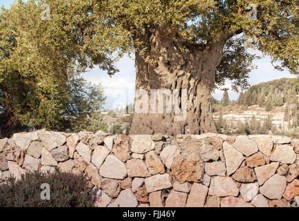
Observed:
[[[147,153],[155,148],[152,135],[130,135],[132,139],[131,151],[134,153]]]

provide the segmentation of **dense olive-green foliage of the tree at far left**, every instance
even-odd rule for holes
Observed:
[[[1,8],[1,133],[8,124],[63,130],[83,124],[88,114],[101,109],[103,88],[79,74],[92,67],[88,57],[111,73],[113,67],[107,53],[97,46],[96,59],[79,37],[81,27],[92,22],[86,14],[90,3],[72,3],[51,1],[48,21],[41,20],[41,1],[15,1],[10,10]]]

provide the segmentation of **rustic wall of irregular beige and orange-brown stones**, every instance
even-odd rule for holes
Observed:
[[[96,206],[299,206],[299,140],[285,136],[34,131],[0,140],[0,184],[27,171],[89,178]]]

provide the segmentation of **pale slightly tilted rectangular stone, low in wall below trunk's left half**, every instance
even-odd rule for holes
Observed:
[[[172,181],[169,174],[157,174],[152,177],[145,178],[145,187],[147,193],[159,191],[161,189],[169,189],[172,187]]]

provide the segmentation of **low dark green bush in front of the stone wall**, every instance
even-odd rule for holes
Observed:
[[[41,184],[50,186],[50,200],[41,200]],[[87,178],[56,170],[26,173],[17,181],[10,177],[0,185],[0,207],[92,207]]]

